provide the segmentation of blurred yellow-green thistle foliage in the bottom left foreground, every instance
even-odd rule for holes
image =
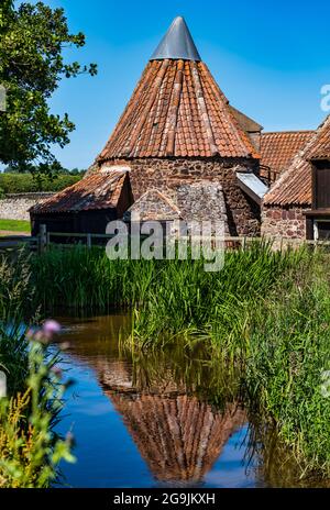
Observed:
[[[48,487],[62,459],[75,462],[70,435],[62,440],[52,430],[66,386],[53,372],[56,356],[46,361],[45,348],[32,344],[26,391],[0,400],[1,488]]]

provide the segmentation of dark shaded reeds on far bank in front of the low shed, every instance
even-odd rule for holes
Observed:
[[[144,299],[155,281],[158,264],[146,260],[109,260],[105,250],[54,247],[31,260],[35,301],[44,310],[103,311]]]

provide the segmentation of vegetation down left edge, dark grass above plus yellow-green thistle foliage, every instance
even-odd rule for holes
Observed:
[[[0,370],[8,397],[0,398],[0,488],[48,487],[62,458],[73,461],[70,441],[53,431],[65,386],[53,373],[57,356],[30,342],[34,292],[24,252],[0,260]],[[29,318],[29,319],[28,319]]]

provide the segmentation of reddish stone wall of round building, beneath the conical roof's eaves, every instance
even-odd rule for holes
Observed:
[[[146,190],[156,188],[176,202],[177,188],[184,184],[210,180],[223,189],[230,235],[260,235],[260,207],[239,187],[237,170],[257,171],[253,159],[221,158],[143,158],[119,159],[103,165],[131,167],[134,199]]]

